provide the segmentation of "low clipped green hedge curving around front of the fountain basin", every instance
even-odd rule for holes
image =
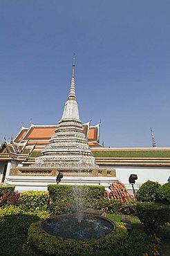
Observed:
[[[47,235],[40,228],[41,221],[32,223],[28,230],[28,244],[35,246],[42,253],[48,255],[87,255],[121,246],[127,235],[126,228],[122,223],[117,224],[115,232],[99,239],[75,240],[60,239],[52,235]]]

